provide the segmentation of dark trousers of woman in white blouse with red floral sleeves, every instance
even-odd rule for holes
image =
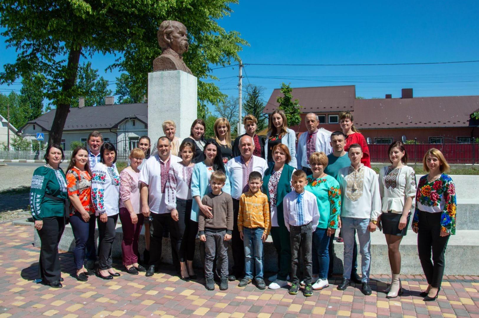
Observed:
[[[98,217],[99,246],[98,268],[102,271],[112,268],[112,246],[116,236],[116,221],[118,214],[108,217],[106,222],[102,222]]]

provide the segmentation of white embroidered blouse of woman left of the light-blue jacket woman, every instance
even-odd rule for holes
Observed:
[[[191,176],[193,167],[185,167],[179,162],[171,163],[168,181],[165,186],[165,203],[168,210],[176,208],[176,198],[191,199]]]

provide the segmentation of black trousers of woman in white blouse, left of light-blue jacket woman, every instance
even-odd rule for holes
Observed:
[[[176,251],[180,262],[193,261],[198,223],[192,221],[191,207],[193,200],[176,199],[178,222],[173,221],[177,233]]]

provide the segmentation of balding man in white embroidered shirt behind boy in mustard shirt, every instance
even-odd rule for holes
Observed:
[[[233,198],[233,233],[231,235],[231,247],[233,252],[233,268],[232,273],[228,276],[228,280],[234,281],[242,276],[244,271],[244,246],[243,241],[239,237],[238,231],[238,212],[239,197],[250,189],[248,185],[248,177],[253,171],[257,171],[264,176],[264,172],[268,169],[266,160],[261,157],[254,156],[254,142],[249,135],[244,135],[239,140],[238,157],[234,157],[228,161],[226,165],[226,173],[228,174],[231,184],[231,197]]]

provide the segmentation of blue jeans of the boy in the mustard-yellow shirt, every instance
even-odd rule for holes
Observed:
[[[263,228],[243,228],[244,244],[244,271],[245,278],[253,279],[253,270],[256,265],[255,278],[263,279]]]

